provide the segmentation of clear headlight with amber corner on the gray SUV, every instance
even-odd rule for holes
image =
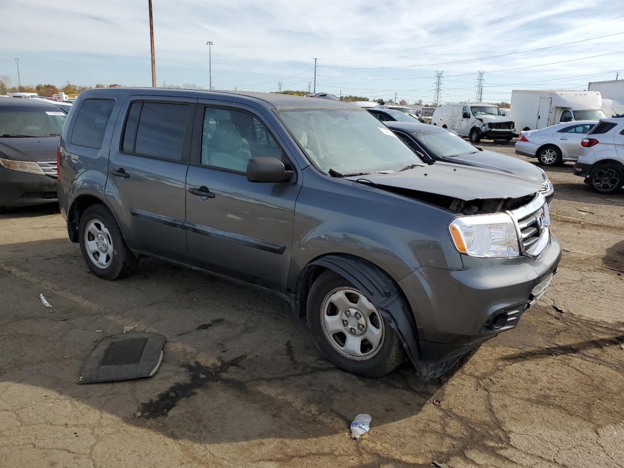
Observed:
[[[449,233],[457,250],[466,255],[480,258],[520,255],[514,222],[505,213],[455,218],[449,224]]]

